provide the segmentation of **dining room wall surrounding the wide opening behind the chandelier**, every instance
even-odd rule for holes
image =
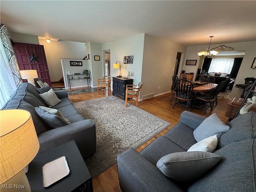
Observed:
[[[252,61],[256,57],[256,42],[252,41],[252,42],[222,43],[222,44],[225,46],[234,48],[235,51],[246,51],[234,85],[244,84],[244,78],[246,77],[256,78],[256,70],[255,69],[253,70],[252,68],[250,68],[252,65]],[[218,46],[220,46],[220,44],[211,45],[211,47],[218,47]],[[188,47],[184,63],[186,62],[186,60],[199,60],[197,52],[206,50],[206,47],[207,45]],[[197,68],[198,68],[198,62],[196,66],[188,66],[185,64],[183,66],[183,70],[185,70],[186,72],[194,72],[194,74],[196,74]],[[230,94],[230,98],[232,97],[240,98],[242,91],[243,91],[242,89],[233,87],[232,92]]]

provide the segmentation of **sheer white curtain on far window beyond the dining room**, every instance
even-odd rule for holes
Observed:
[[[235,58],[213,58],[208,72],[222,72],[230,74]]]

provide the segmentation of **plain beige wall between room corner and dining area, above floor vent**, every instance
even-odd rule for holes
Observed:
[[[146,94],[154,93],[156,96],[171,91],[177,52],[185,53],[186,46],[145,34],[142,66],[143,88],[140,98]],[[182,56],[181,64],[183,58]]]

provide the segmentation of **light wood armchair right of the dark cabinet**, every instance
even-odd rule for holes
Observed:
[[[143,83],[139,82],[138,85],[126,85],[126,91],[125,91],[125,106],[127,107],[128,98],[130,98],[129,102],[136,102],[136,106],[138,106],[138,98],[140,89],[142,87]],[[132,100],[132,99],[135,100]]]

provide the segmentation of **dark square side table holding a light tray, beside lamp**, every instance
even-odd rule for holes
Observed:
[[[43,187],[42,166],[52,160],[66,156],[70,174],[48,188]],[[82,184],[86,184],[84,192],[93,192],[92,176],[78,150],[74,140],[56,148],[37,154],[28,166],[26,173],[31,191],[71,192],[77,191]]]

